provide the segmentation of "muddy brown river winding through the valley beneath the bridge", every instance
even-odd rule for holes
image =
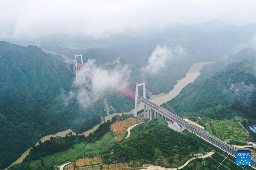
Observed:
[[[214,62],[201,62],[201,63],[195,63],[194,65],[191,66],[191,68],[188,70],[187,74],[185,77],[181,78],[180,80],[177,80],[177,84],[174,85],[174,88],[172,90],[170,90],[169,93],[160,93],[159,96],[161,97],[162,100],[164,100],[164,102],[167,102],[169,100],[171,100],[172,98],[176,97],[180,91],[186,86],[188,85],[189,83],[193,83],[194,80],[200,75],[200,70],[203,68],[204,65],[206,64],[211,64],[211,63],[214,63]],[[157,97],[157,95],[152,95],[150,97],[150,100],[154,100],[154,102],[156,102],[157,105],[161,105],[163,104],[164,102],[159,99]],[[143,109],[143,105],[141,103],[138,104],[138,110],[141,110]],[[133,110],[132,109],[130,112],[126,112],[124,114],[133,114]],[[111,114],[111,115],[108,115],[105,117],[105,121],[107,120],[111,120],[111,118],[115,115],[122,115],[123,113],[115,113],[115,114]],[[104,123],[104,122],[103,122]],[[100,123],[102,124],[102,123]],[[81,133],[79,135],[89,135],[91,132],[93,132],[94,130],[96,130],[100,124],[96,125],[96,126],[93,126],[92,129],[90,130],[87,130],[85,131],[84,133]],[[68,129],[68,130],[65,130],[65,131],[61,131],[61,132],[58,132],[56,134],[50,134],[50,135],[47,135],[47,136],[44,136],[42,137],[40,140],[41,142],[44,142],[46,140],[49,140],[50,137],[56,137],[56,136],[60,136],[60,137],[65,137],[66,134],[72,132],[73,135],[75,135],[76,133],[73,132],[71,129]],[[36,145],[38,145],[38,142],[36,143]],[[29,148],[26,152],[24,152],[21,157],[19,159],[17,159],[15,162],[13,162],[10,166],[14,165],[14,164],[18,164],[20,162],[22,162],[22,160],[28,155],[29,151],[30,151],[31,148]],[[9,166],[9,167],[10,167]],[[8,168],[9,168],[8,167]],[[5,168],[4,170],[6,170],[7,168]]]

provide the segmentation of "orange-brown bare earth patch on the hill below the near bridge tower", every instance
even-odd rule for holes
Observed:
[[[124,137],[125,133],[127,132],[127,129],[135,124],[142,123],[143,121],[139,120],[138,118],[129,117],[128,119],[125,119],[123,121],[116,121],[113,123],[110,128],[116,133],[116,139],[115,141],[121,141],[121,139]]]

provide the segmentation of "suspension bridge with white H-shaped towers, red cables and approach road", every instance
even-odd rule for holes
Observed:
[[[80,55],[75,55],[75,60],[70,59],[69,57],[53,52],[53,51],[49,51],[49,50],[43,50],[46,53],[51,53],[53,55],[60,55],[65,62],[73,64],[74,65],[74,72],[76,73],[76,80],[77,80],[77,74],[79,69],[81,69],[83,67],[83,56]],[[81,63],[77,62],[77,57],[80,57],[80,61]],[[85,80],[85,79],[84,79]],[[167,105],[166,102],[164,102],[164,100],[161,99],[161,97],[159,95],[157,95],[157,93],[145,82],[143,81],[142,83],[135,83],[135,92],[132,91],[129,88],[118,88],[118,87],[114,87],[116,90],[118,90],[119,92],[123,93],[124,95],[128,96],[129,98],[135,100],[135,104],[134,104],[134,116],[137,116],[137,104],[138,102],[142,103],[144,105],[144,109],[143,109],[143,118],[149,118],[150,120],[152,120],[154,117],[158,116],[158,117],[162,117],[172,121],[173,123],[177,124],[178,128],[186,128],[189,131],[195,133],[198,137],[201,137],[202,139],[206,140],[207,142],[213,144],[214,146],[222,149],[223,151],[227,152],[228,154],[230,154],[231,156],[236,158],[236,151],[238,149],[236,149],[235,147],[227,144],[226,142],[220,140],[219,138],[209,134],[208,132],[206,132],[203,129],[200,129],[196,126],[194,126],[193,124],[185,121],[184,119],[180,118],[180,116],[174,112],[174,110]],[[173,112],[170,112],[166,109],[164,109],[163,107],[160,107],[156,104],[156,102],[154,100],[148,100],[146,99],[146,85],[150,88],[150,90],[152,92],[154,92],[165,104],[166,106]],[[143,96],[141,96],[140,94],[138,94],[138,90],[140,89],[143,91]],[[143,87],[143,88],[142,88]],[[148,95],[148,94],[147,94]],[[148,95],[149,96],[149,95]],[[150,97],[149,97],[150,98]],[[256,159],[254,157],[251,158],[251,165],[253,168],[256,169]]]

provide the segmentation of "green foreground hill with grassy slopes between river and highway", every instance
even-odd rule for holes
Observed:
[[[127,115],[118,119],[120,121],[125,118]],[[117,117],[113,117],[111,122],[101,124],[87,137],[84,135],[52,137],[33,147],[22,163],[10,169],[17,170],[23,166],[31,169],[54,169],[54,166],[66,162],[75,162],[81,158],[93,158],[99,155],[103,158],[102,163],[110,165],[114,162],[130,162],[131,167],[142,167],[143,164],[148,163],[164,167],[179,167],[191,158],[190,154],[204,153],[205,147],[196,135],[176,132],[169,128],[167,122],[160,117],[134,127],[127,139],[111,142],[115,137],[109,133],[110,125],[116,119]],[[81,148],[78,149],[77,147],[80,146]],[[54,157],[56,161],[49,161],[48,157]]]

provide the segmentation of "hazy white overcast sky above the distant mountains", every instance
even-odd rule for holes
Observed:
[[[51,33],[105,37],[173,23],[256,22],[255,0],[0,0],[0,37]]]

